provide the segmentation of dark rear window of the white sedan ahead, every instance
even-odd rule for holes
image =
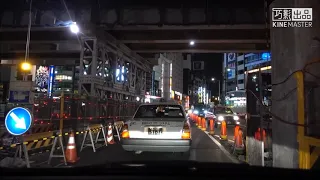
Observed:
[[[142,105],[134,118],[184,118],[179,105]]]

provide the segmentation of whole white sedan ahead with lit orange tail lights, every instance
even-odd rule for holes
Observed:
[[[191,128],[181,105],[149,103],[139,106],[121,133],[126,151],[189,153]]]

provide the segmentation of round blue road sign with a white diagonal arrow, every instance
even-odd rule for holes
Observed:
[[[27,132],[32,124],[32,116],[28,109],[16,107],[11,109],[5,118],[7,130],[12,135],[22,135]]]

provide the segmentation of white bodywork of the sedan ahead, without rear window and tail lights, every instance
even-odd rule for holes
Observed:
[[[135,118],[142,106],[175,106],[181,108],[180,117]],[[191,127],[181,105],[173,103],[142,104],[133,118],[127,121],[129,138],[121,139],[121,145],[126,151],[147,152],[189,152],[191,146]],[[190,138],[183,139],[184,126],[188,125]]]

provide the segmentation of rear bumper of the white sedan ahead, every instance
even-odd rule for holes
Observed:
[[[187,152],[192,140],[184,139],[121,139],[126,151]]]

